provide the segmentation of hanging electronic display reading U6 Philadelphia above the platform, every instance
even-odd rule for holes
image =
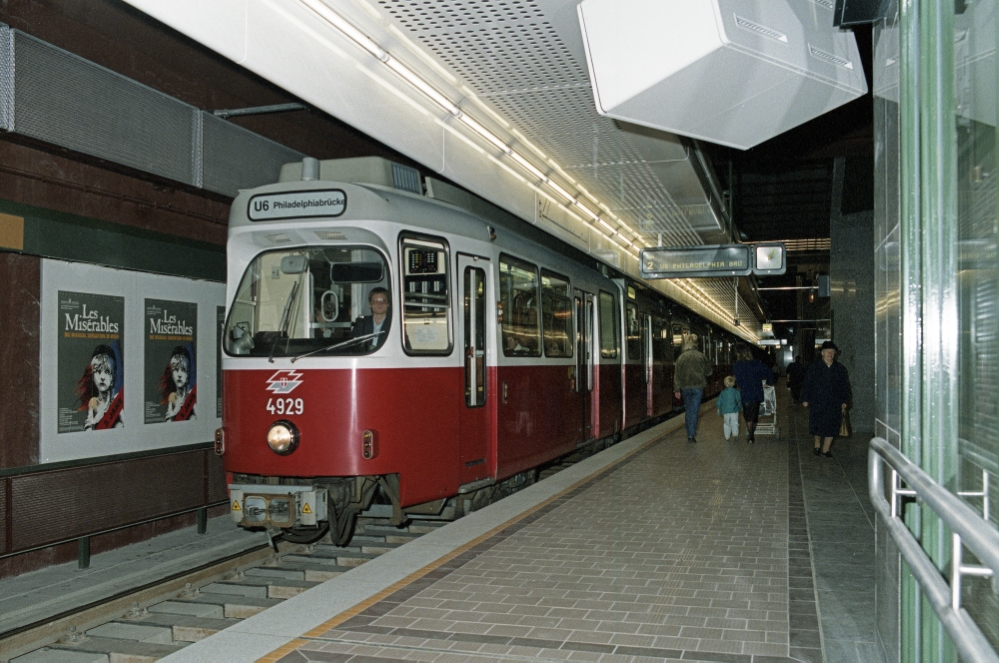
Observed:
[[[750,247],[746,244],[642,249],[644,279],[693,278],[698,276],[748,276],[753,272]]]

